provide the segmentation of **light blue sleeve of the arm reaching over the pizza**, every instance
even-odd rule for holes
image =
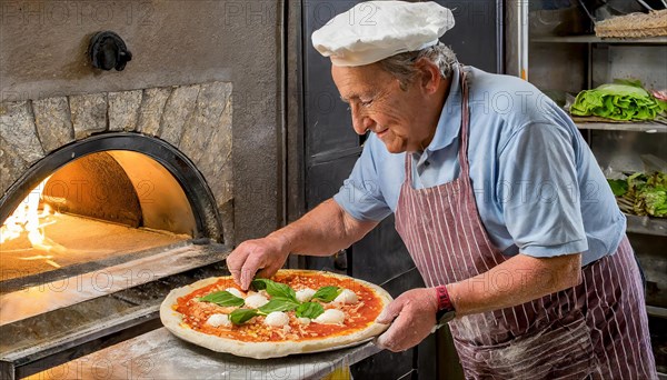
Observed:
[[[334,196],[347,213],[361,221],[380,221],[392,212],[382,197],[372,149],[371,143],[364,147],[350,177]]]

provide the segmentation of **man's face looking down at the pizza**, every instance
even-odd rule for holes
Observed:
[[[378,63],[334,66],[331,76],[340,98],[350,104],[357,133],[376,133],[391,153],[420,151],[428,146],[436,126],[425,114],[427,93],[419,79],[402,90],[399,80]]]

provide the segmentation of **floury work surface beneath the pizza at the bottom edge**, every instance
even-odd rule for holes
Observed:
[[[380,350],[372,343],[310,354],[256,360],[213,352],[161,328],[42,372],[78,379],[320,379]],[[34,374],[37,379],[44,379]],[[33,378],[31,377],[31,378]],[[46,377],[49,378],[48,374]]]

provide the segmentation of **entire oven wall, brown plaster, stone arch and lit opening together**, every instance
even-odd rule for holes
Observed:
[[[279,9],[0,3],[0,378],[159,328],[170,289],[283,223]],[[123,71],[91,63],[99,31]]]

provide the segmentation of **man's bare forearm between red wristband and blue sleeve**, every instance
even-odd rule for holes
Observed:
[[[489,271],[447,286],[457,317],[504,309],[580,282],[581,254],[547,259],[518,254]]]

